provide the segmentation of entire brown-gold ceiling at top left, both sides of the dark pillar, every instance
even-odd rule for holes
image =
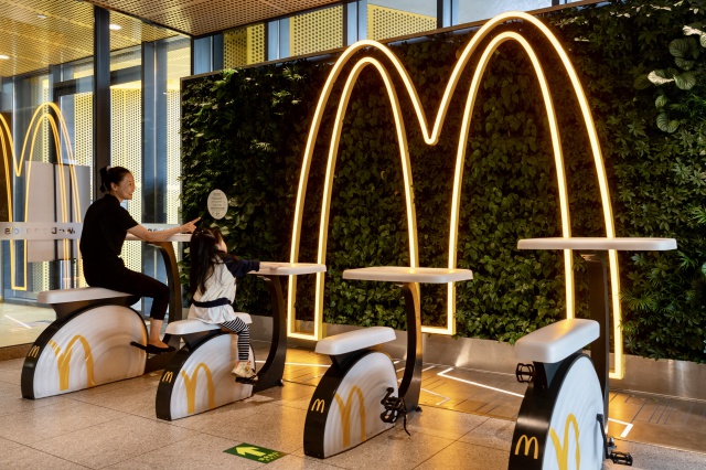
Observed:
[[[0,77],[93,55],[93,4],[110,10],[110,50],[200,36],[338,0],[0,0]],[[93,3],[93,4],[92,4]],[[125,14],[122,14],[125,13]],[[147,22],[141,21],[147,20]]]

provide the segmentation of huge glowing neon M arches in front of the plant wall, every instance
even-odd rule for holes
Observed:
[[[341,73],[343,72],[344,65],[346,65],[353,55],[363,49],[372,49],[377,52],[384,54],[386,58],[392,63],[393,70],[396,73],[397,77],[402,81],[404,88],[407,92],[408,97],[411,100],[415,114],[417,116],[418,125],[424,136],[425,142],[429,146],[434,146],[439,140],[439,135],[441,132],[441,128],[443,126],[443,121],[446,119],[447,111],[449,109],[451,97],[456,90],[456,87],[461,78],[463,71],[473,53],[478,50],[481,41],[488,36],[490,32],[492,32],[498,25],[504,23],[509,20],[523,20],[526,21],[534,26],[537,28],[544,35],[546,40],[552,44],[554,51],[560,58],[560,63],[564,65],[566,73],[571,83],[571,87],[574,89],[574,94],[579,103],[579,107],[581,110],[581,116],[584,118],[584,122],[586,125],[590,149],[593,157],[593,163],[596,167],[596,175],[598,179],[602,211],[603,211],[603,222],[606,226],[606,237],[613,238],[616,236],[612,207],[610,204],[610,194],[608,189],[608,181],[606,178],[606,169],[603,164],[603,159],[600,150],[600,146],[598,143],[598,135],[596,131],[596,127],[593,124],[593,119],[590,114],[590,108],[588,105],[588,100],[581,87],[581,84],[578,79],[578,75],[571,65],[571,62],[568,58],[568,55],[559,44],[558,40],[552,34],[552,32],[537,19],[534,17],[523,13],[523,12],[507,12],[500,14],[492,20],[488,21],[471,39],[469,44],[463,49],[462,53],[459,56],[459,60],[451,72],[449,77],[446,90],[439,104],[439,109],[437,111],[436,119],[434,121],[434,126],[430,128],[427,121],[427,116],[421,106],[421,100],[417,94],[417,89],[411,82],[411,78],[407,71],[405,70],[402,62],[394,55],[394,53],[386,47],[385,45],[375,42],[375,41],[359,41],[355,44],[347,47],[339,57],[339,60],[333,65],[329,77],[327,78],[325,84],[323,85],[323,89],[319,97],[319,102],[317,104],[317,108],[313,116],[313,121],[311,124],[309,136],[307,139],[307,146],[304,149],[304,156],[301,165],[301,173],[299,179],[299,188],[297,193],[297,202],[295,206],[295,221],[292,227],[292,238],[291,238],[291,252],[290,252],[290,260],[292,263],[297,263],[299,259],[299,245],[301,237],[301,226],[302,226],[302,214],[303,214],[303,205],[307,192],[307,183],[309,180],[309,170],[311,167],[311,161],[313,159],[313,150],[319,136],[319,129],[321,127],[321,122],[324,115],[324,108],[329,102],[329,97],[333,90],[334,85],[339,81]],[[552,137],[552,147],[554,152],[554,161],[556,167],[556,179],[557,186],[559,189],[559,209],[560,209],[560,217],[561,217],[561,236],[571,237],[570,231],[570,216],[569,216],[569,204],[568,204],[568,194],[567,194],[567,185],[566,185],[566,175],[564,169],[564,157],[561,152],[560,139],[559,139],[559,129],[555,116],[554,104],[552,102],[552,95],[549,93],[549,86],[546,82],[544,72],[542,70],[542,65],[539,60],[537,58],[534,50],[531,44],[518,33],[515,32],[502,32],[498,36],[495,36],[483,50],[481,58],[478,62],[478,66],[473,73],[473,77],[471,81],[470,90],[466,100],[466,106],[463,109],[462,116],[462,125],[461,131],[459,135],[458,141],[458,151],[456,159],[456,168],[454,168],[454,179],[453,179],[453,191],[451,194],[451,214],[450,214],[450,236],[449,236],[449,259],[448,267],[453,269],[457,266],[457,242],[458,242],[458,225],[459,225],[459,204],[461,200],[461,186],[462,186],[462,178],[463,178],[463,163],[466,161],[466,149],[469,137],[469,130],[471,125],[471,117],[473,114],[473,106],[475,104],[477,95],[480,89],[481,78],[483,76],[483,72],[488,66],[490,58],[492,57],[493,52],[504,42],[506,41],[515,41],[517,42],[528,55],[534,72],[537,76],[537,81],[539,82],[539,87],[542,89],[542,96],[544,100],[545,110],[547,114],[547,120],[549,125],[549,131]],[[321,202],[321,221],[319,225],[319,246],[317,254],[317,263],[325,264],[325,248],[327,248],[327,238],[328,238],[328,225],[329,225],[329,211],[331,205],[331,192],[333,186],[333,174],[335,168],[335,161],[339,151],[339,142],[341,138],[343,118],[347,108],[349,99],[351,97],[351,93],[353,90],[353,86],[357,81],[359,75],[366,66],[373,66],[375,71],[381,75],[385,84],[385,89],[389,97],[393,116],[395,121],[396,137],[399,146],[399,158],[402,162],[402,171],[403,179],[405,185],[405,203],[407,207],[407,231],[408,231],[408,243],[409,243],[409,265],[410,267],[417,267],[419,259],[419,250],[417,244],[417,222],[416,222],[416,213],[415,213],[415,204],[414,204],[414,194],[413,194],[413,173],[409,163],[409,152],[407,145],[407,135],[405,131],[405,122],[400,111],[400,104],[397,98],[395,87],[392,83],[392,77],[389,72],[377,58],[374,57],[363,57],[357,60],[352,70],[349,72],[349,75],[345,79],[345,84],[343,86],[343,90],[341,93],[341,98],[339,100],[338,110],[335,115],[335,120],[333,125],[333,131],[331,136],[331,143],[329,146],[329,154],[328,154],[328,163],[323,186],[323,196]],[[564,250],[564,266],[565,266],[565,278],[566,278],[566,309],[567,309],[567,318],[574,318],[575,314],[575,306],[574,306],[574,267],[573,267],[573,253],[567,249]],[[614,371],[611,372],[611,377],[622,378],[623,376],[623,355],[622,355],[622,330],[620,327],[621,321],[621,309],[620,309],[620,300],[618,298],[618,293],[620,290],[619,285],[619,267],[618,267],[618,256],[616,250],[609,250],[609,266],[611,273],[611,292],[612,292],[612,307],[613,307],[613,339],[614,339],[614,352],[616,352],[616,362],[614,362]],[[447,301],[447,320],[446,328],[438,327],[422,327],[421,331],[426,333],[439,333],[439,334],[454,334],[456,330],[456,287],[454,282],[449,282],[448,285],[448,301]],[[288,321],[287,321],[287,333],[291,338],[300,338],[306,340],[320,340],[322,338],[322,324],[323,324],[323,293],[324,293],[324,275],[322,273],[317,274],[317,284],[315,284],[315,301],[314,301],[314,324],[313,332],[311,334],[302,333],[295,330],[295,320],[296,320],[296,311],[295,311],[295,299],[297,295],[297,279],[295,276],[291,276],[289,279],[289,289],[288,289]]]

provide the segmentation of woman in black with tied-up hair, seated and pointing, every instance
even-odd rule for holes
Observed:
[[[179,227],[149,232],[120,206],[122,201],[131,200],[135,192],[132,173],[122,167],[100,169],[100,192],[107,194],[90,204],[81,234],[79,246],[86,282],[94,287],[151,297],[153,301],[147,352],[157,354],[173,351],[159,337],[169,306],[169,287],[126,268],[120,252],[128,232],[145,242],[162,242],[174,234],[192,233],[199,218]]]

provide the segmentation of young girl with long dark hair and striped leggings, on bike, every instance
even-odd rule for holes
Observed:
[[[238,360],[233,375],[236,382],[253,383],[257,375],[248,361],[250,329],[233,311],[236,278],[260,268],[259,260],[238,259],[229,255],[217,228],[199,228],[191,236],[189,287],[192,303],[189,318],[220,324],[238,335]]]

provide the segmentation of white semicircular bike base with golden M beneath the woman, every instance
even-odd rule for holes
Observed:
[[[135,298],[124,299],[125,305],[105,305],[101,299],[60,313],[24,360],[22,396],[43,398],[142,375],[147,354],[130,342],[145,344],[147,328],[127,307]]]

